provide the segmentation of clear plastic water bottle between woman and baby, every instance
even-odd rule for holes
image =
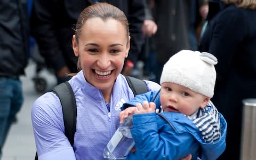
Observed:
[[[134,146],[132,134],[132,116],[124,119],[124,122],[116,130],[108,145],[103,150],[103,157],[106,159],[125,159]]]

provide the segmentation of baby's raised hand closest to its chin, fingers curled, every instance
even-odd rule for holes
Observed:
[[[143,101],[137,103],[137,108],[134,110],[134,114],[145,114],[145,113],[154,113],[156,109],[156,104],[154,102],[148,103],[148,101]]]

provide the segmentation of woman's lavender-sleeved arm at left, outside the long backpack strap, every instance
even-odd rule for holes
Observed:
[[[38,98],[31,112],[39,160],[75,160],[73,147],[64,134],[62,108],[58,97],[46,93]]]

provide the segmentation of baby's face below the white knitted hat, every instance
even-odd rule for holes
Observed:
[[[179,84],[165,82],[161,87],[161,105],[164,111],[173,111],[190,116],[204,108],[210,98]]]

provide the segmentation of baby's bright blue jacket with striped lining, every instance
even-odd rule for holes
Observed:
[[[137,95],[133,100],[124,103],[135,106],[138,102],[154,101],[157,108],[161,106],[157,91]],[[220,137],[218,140],[206,142],[209,137],[195,119],[181,113],[150,113],[133,115],[132,137],[137,151],[128,155],[127,159],[180,159],[192,154],[192,159],[217,159],[226,148],[227,123],[223,116],[209,102],[202,109],[202,117],[211,117],[216,111],[216,123],[219,124]],[[204,119],[204,118],[203,118]],[[207,122],[205,122],[207,123]],[[210,124],[211,125],[211,124]],[[215,125],[212,125],[212,130]],[[210,126],[211,127],[211,126]],[[218,131],[217,131],[218,132]]]

